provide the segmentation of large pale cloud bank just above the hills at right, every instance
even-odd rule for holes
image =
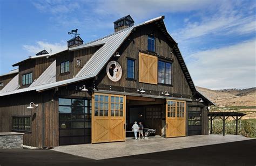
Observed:
[[[211,89],[256,86],[256,40],[194,53],[187,62],[194,83]]]

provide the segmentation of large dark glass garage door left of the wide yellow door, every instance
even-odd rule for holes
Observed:
[[[91,143],[91,100],[59,98],[59,145]]]

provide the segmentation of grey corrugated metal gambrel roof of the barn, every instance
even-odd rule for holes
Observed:
[[[105,64],[111,59],[111,57],[117,52],[117,49],[123,44],[125,39],[129,37],[131,32],[134,30],[136,27],[140,27],[143,25],[151,24],[154,23],[156,24],[157,27],[159,27],[160,31],[163,32],[163,34],[166,35],[167,39],[170,40],[170,42],[175,45],[176,47],[173,48],[174,52],[177,55],[177,59],[180,63],[180,66],[183,70],[183,73],[185,75],[185,78],[188,82],[188,85],[190,86],[192,91],[197,91],[196,86],[194,86],[194,83],[192,81],[192,78],[190,76],[190,73],[187,70],[186,64],[183,60],[183,57],[181,56],[180,50],[177,46],[177,43],[172,39],[171,35],[167,32],[166,27],[164,25],[164,16],[160,16],[157,18],[153,18],[150,20],[147,20],[143,23],[140,23],[138,25],[134,25],[131,27],[127,27],[124,30],[117,31],[113,34],[107,35],[106,37],[87,42],[86,44],[77,46],[77,47],[72,47],[67,50],[73,51],[77,49],[83,49],[83,48],[88,48],[88,47],[95,47],[95,46],[101,46],[85,63],[82,69],[78,72],[78,74],[74,78],[70,78],[68,80],[63,80],[63,81],[58,81],[56,82],[56,65],[53,66],[53,62],[48,69],[44,71],[44,73],[38,78],[37,81],[33,82],[28,88],[23,88],[20,90],[13,89],[12,91],[9,92],[4,92],[3,90],[0,91],[0,96],[5,96],[5,95],[10,95],[12,93],[17,93],[17,92],[23,92],[23,91],[31,91],[31,90],[36,90],[36,91],[43,91],[47,89],[52,89],[57,86],[63,86],[67,85],[70,83],[75,83],[83,80],[87,80],[89,78],[96,77],[100,71],[103,69]],[[63,50],[63,52],[66,50]],[[52,56],[56,55],[55,54],[46,54],[46,55],[39,55],[36,57],[30,57],[30,59],[37,58],[40,56]],[[18,62],[21,63],[21,62]],[[16,64],[18,64],[16,63]],[[15,66],[15,64],[14,64]],[[50,81],[46,81],[46,79],[49,79]]]

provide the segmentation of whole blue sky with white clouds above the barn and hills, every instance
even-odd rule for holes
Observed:
[[[10,0],[0,5],[0,74],[40,50],[65,49],[72,29],[87,42],[112,33],[113,21],[125,15],[135,24],[164,15],[196,85],[256,86],[255,1]]]

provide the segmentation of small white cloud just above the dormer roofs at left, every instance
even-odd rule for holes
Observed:
[[[23,45],[23,49],[33,54],[36,54],[44,49],[46,49],[49,53],[50,49],[52,49],[52,53],[57,53],[67,48],[68,47],[65,42],[50,44],[49,42],[45,41],[37,41],[36,45]]]

